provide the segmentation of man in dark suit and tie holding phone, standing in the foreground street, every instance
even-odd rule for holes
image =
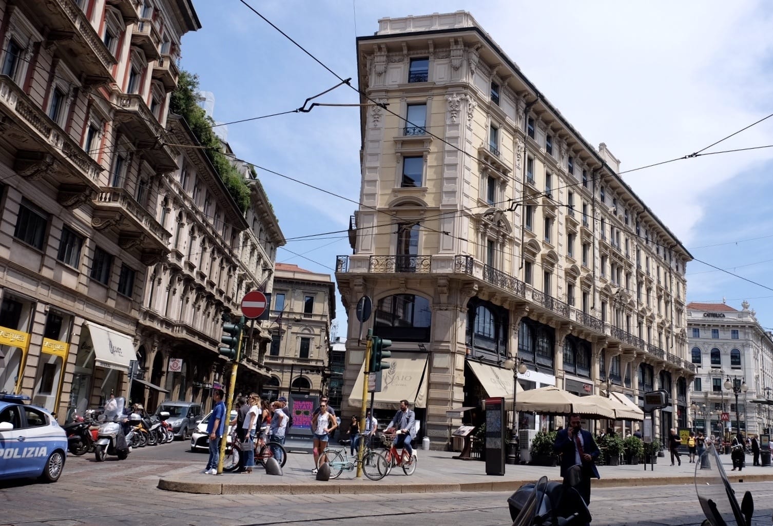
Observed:
[[[569,427],[558,432],[553,451],[561,453],[561,477],[566,477],[570,467],[581,467],[581,481],[576,488],[585,504],[591,504],[591,477],[601,478],[596,469],[601,452],[591,433],[582,429],[580,415],[569,416]]]

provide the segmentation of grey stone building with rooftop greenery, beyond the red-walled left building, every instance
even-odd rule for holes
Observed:
[[[196,146],[181,117],[170,115],[168,129],[177,143]],[[131,398],[155,407],[163,386],[164,398],[199,402],[206,409],[213,384],[224,384],[230,372],[217,352],[222,315],[240,316],[247,291],[271,290],[276,247],[284,245],[284,237],[257,180],[250,181],[251,205],[243,215],[202,150],[181,148],[177,165],[161,180],[161,223],[172,232],[169,258],[148,271],[137,350],[145,375]],[[257,324],[254,346],[245,351],[237,375],[240,391],[254,391],[267,378],[258,361],[261,340],[264,348],[271,341],[265,324]]]

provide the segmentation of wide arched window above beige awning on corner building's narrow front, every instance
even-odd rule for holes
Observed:
[[[395,294],[376,305],[374,332],[392,341],[430,341],[430,300],[415,294]]]

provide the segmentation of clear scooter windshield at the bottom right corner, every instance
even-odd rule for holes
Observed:
[[[713,444],[700,456],[700,462],[695,463],[695,490],[703,514],[712,526],[744,526],[741,507]]]

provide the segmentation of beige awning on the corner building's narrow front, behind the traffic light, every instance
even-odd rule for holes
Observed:
[[[423,409],[427,404],[427,354],[424,352],[393,351],[386,361],[389,369],[381,372],[381,392],[373,399],[374,409],[399,409],[400,400],[407,400],[413,407]],[[365,364],[359,368],[354,388],[349,393],[349,404],[360,406],[363,402]],[[368,394],[370,400],[370,394]]]

